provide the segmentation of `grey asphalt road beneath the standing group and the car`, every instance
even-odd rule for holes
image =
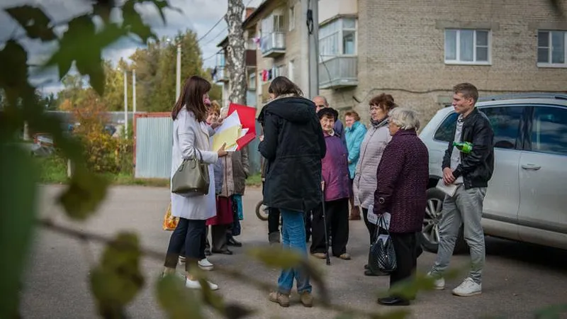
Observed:
[[[165,252],[170,233],[162,230],[162,218],[169,203],[169,191],[162,188],[115,187],[101,206],[99,213],[86,223],[71,223],[65,218],[55,196],[60,186],[42,186],[40,211],[57,223],[74,225],[102,235],[113,235],[119,230],[133,230],[140,235],[145,247]],[[245,196],[245,220],[239,240],[244,247],[233,248],[232,256],[213,254],[214,264],[237,267],[263,281],[276,282],[277,269],[267,269],[245,254],[249,247],[267,245],[267,223],[254,215],[254,206],[261,198],[258,189],[248,189]],[[363,275],[367,258],[366,228],[362,221],[352,221],[348,250],[353,259],[332,259],[325,270],[332,302],[347,306],[387,312],[392,309],[376,303],[378,293],[388,289],[387,277]],[[25,276],[21,310],[23,318],[97,318],[94,299],[89,293],[87,274],[101,252],[101,245],[86,245],[64,235],[42,230],[34,240],[30,267]],[[412,306],[409,318],[534,318],[534,310],[555,303],[567,303],[567,251],[526,245],[518,242],[487,239],[488,255],[480,296],[459,298],[451,289],[461,278],[447,282],[444,291],[420,293]],[[418,268],[427,271],[434,254],[424,253]],[[466,255],[455,256],[451,267],[463,267]],[[130,318],[165,318],[155,301],[155,279],[162,271],[162,262],[143,259],[147,285],[128,308]],[[247,284],[210,272],[210,278],[220,286],[219,293],[228,301],[239,301],[255,308],[253,318],[334,318],[326,310],[315,306],[303,308],[292,303],[281,308],[267,301],[266,294]],[[314,293],[317,293],[315,290]],[[292,299],[292,302],[296,300]],[[323,317],[325,316],[325,317]],[[218,318],[208,313],[206,318]],[[561,318],[567,318],[567,313]]]

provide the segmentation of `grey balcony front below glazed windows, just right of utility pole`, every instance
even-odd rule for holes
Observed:
[[[357,86],[358,57],[337,55],[319,62],[319,89],[340,89]]]

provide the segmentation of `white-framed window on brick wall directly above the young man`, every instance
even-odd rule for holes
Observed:
[[[445,63],[490,64],[490,30],[446,29]]]

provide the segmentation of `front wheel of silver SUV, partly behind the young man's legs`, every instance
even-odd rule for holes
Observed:
[[[443,211],[443,200],[445,194],[439,189],[427,189],[427,207],[425,208],[425,218],[423,219],[422,235],[420,244],[427,252],[437,252],[439,248],[439,223]],[[463,226],[459,230],[453,253],[465,252],[467,245],[464,240]]]

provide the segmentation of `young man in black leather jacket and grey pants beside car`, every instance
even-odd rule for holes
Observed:
[[[449,142],[443,158],[443,183],[456,186],[453,196],[446,195],[439,222],[439,250],[430,272],[435,288],[444,289],[443,273],[449,267],[461,224],[471,249],[471,272],[453,289],[456,296],[474,296],[482,291],[485,261],[484,232],[481,224],[483,201],[494,169],[494,132],[488,118],[475,108],[478,90],[473,84],[454,86],[453,107],[457,118],[454,141],[470,142],[471,152],[461,152]]]

